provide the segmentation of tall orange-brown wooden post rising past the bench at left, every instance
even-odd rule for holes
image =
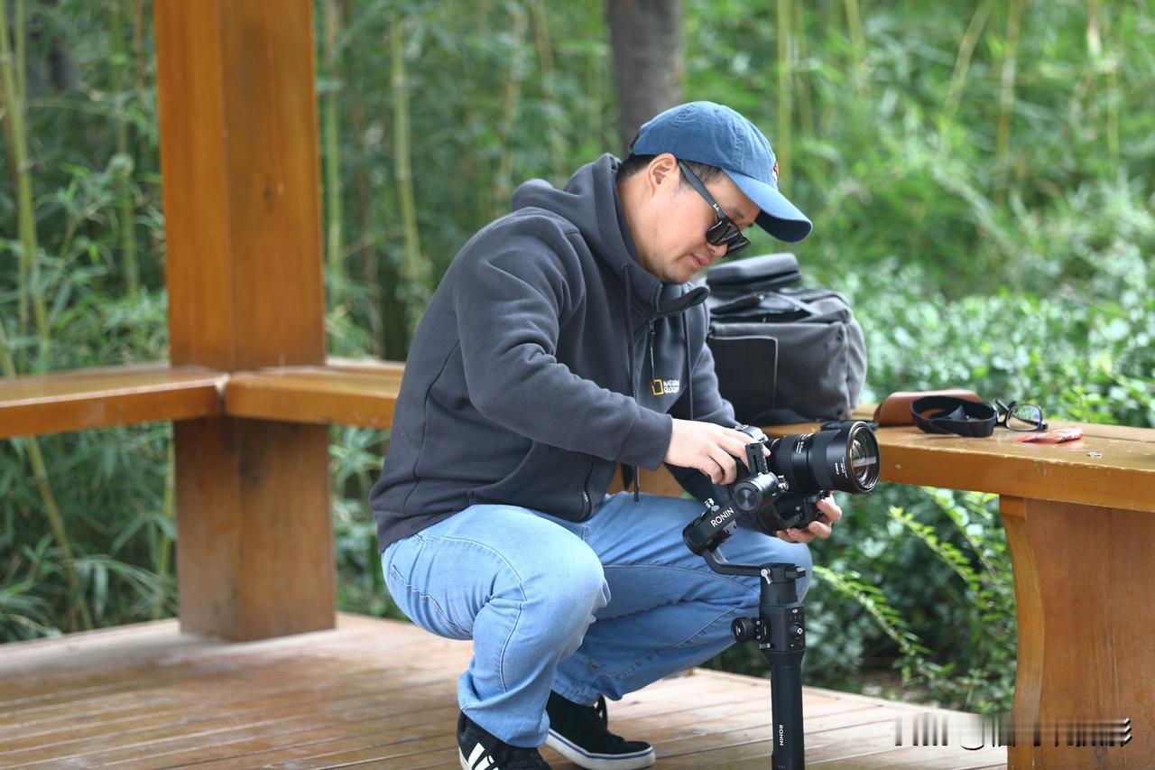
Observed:
[[[155,3],[173,364],[325,362],[310,0]],[[182,630],[331,628],[325,425],[176,423]]]

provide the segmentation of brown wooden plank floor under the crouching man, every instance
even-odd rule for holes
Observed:
[[[0,767],[456,768],[469,644],[342,614],[331,631],[225,643],[159,621],[0,646]],[[806,688],[806,764],[999,768],[1005,749],[895,747],[896,718],[937,713]],[[610,704],[657,768],[765,768],[766,680],[705,669]],[[556,768],[573,768],[545,750]]]

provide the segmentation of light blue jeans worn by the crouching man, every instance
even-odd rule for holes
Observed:
[[[758,614],[757,578],[717,575],[681,541],[694,501],[606,496],[586,521],[513,505],[471,505],[381,556],[401,609],[422,628],[472,639],[457,682],[470,719],[514,746],[549,732],[550,690],[582,704],[620,698],[696,666],[732,642],[730,622]],[[791,562],[803,543],[739,528],[731,562]]]

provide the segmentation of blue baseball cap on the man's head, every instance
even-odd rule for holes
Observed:
[[[728,106],[690,102],[670,108],[638,131],[629,149],[634,155],[670,153],[722,169],[760,209],[758,225],[780,240],[802,240],[814,227],[778,192],[778,162],[770,142]]]

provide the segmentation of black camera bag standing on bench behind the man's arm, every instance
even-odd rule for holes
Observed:
[[[718,390],[751,425],[845,420],[866,379],[866,345],[845,297],[796,288],[793,254],[767,254],[707,273]]]

